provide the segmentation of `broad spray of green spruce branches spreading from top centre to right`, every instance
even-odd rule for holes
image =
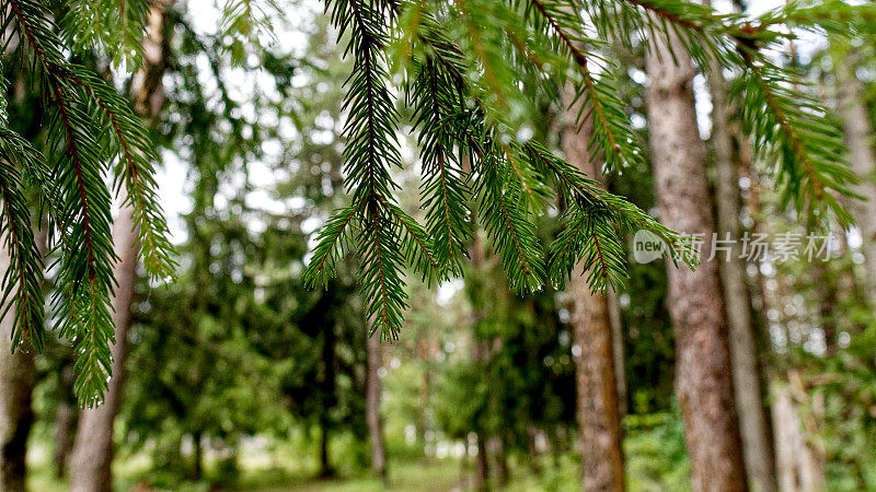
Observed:
[[[641,143],[615,95],[612,66],[598,52],[601,42],[581,34],[588,24],[601,37],[627,44],[672,35],[688,52],[670,56],[691,56],[703,69],[717,57],[725,67],[739,69],[740,79],[764,82],[752,84],[758,92],[746,90],[752,101],[764,103],[750,104],[757,114],[748,116],[748,128],[768,138],[773,130],[797,137],[786,134],[773,139],[776,147],[758,149],[787,157],[777,172],[802,183],[805,191],[789,188],[791,201],[819,199],[834,214],[842,213],[829,201],[844,191],[849,179],[842,166],[829,162],[839,149],[835,136],[822,132],[830,144],[821,155],[807,149],[818,142],[805,141],[808,131],[823,129],[811,117],[819,114],[817,105],[787,107],[796,96],[777,83],[773,68],[761,58],[761,49],[782,38],[774,30],[680,0],[347,0],[330,5],[342,34],[349,34],[347,52],[357,63],[346,106],[351,149],[345,152],[345,169],[354,200],[320,234],[311,278],[325,281],[331,268],[323,266],[339,259],[339,242],[347,231],[360,231],[356,245],[364,259],[360,277],[366,279],[369,315],[390,338],[396,336],[406,306],[402,268],[413,267],[429,280],[461,273],[459,261],[473,234],[473,218],[465,213],[471,198],[510,284],[521,292],[540,289],[545,277],[562,286],[577,265],[584,265],[592,289],[618,289],[625,279],[622,237],[639,229],[659,236],[673,262],[680,258],[691,268],[695,265],[690,238],[608,192],[522,131],[521,121],[539,96],[533,87],[555,95],[570,72],[575,103],[581,107],[577,120],[593,122],[591,154],[603,154],[609,168],[642,161]],[[395,33],[401,35],[394,38]],[[399,122],[387,103],[388,46],[395,47],[394,73],[404,81],[420,149],[425,227],[392,197],[395,184],[388,168],[399,165]],[[766,125],[773,129],[763,130]],[[823,191],[812,195],[819,188]],[[554,199],[565,209],[545,269],[533,221]],[[396,248],[389,248],[390,243]]]

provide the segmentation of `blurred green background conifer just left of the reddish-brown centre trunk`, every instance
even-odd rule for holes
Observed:
[[[532,427],[555,435],[574,425],[570,327],[560,319],[556,292],[517,295],[495,262],[470,270],[464,293],[472,309],[464,333],[472,353],[439,371],[436,419],[453,438],[477,432],[484,450],[491,438],[503,443],[494,469],[483,477],[502,487],[507,454],[530,452]]]

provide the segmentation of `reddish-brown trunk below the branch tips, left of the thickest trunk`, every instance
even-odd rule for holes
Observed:
[[[564,99],[570,102],[569,91]],[[569,163],[599,179],[601,173],[591,160],[588,144],[592,134],[589,121],[579,130],[572,119],[577,107],[567,112],[563,129],[563,152]],[[584,489],[624,490],[621,411],[615,377],[609,303],[603,292],[591,292],[587,276],[578,265],[566,285],[575,350],[577,417],[584,449]]]

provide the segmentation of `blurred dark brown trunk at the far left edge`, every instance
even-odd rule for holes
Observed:
[[[0,250],[0,276],[10,258]],[[10,298],[10,302],[14,300]],[[15,306],[0,319],[0,491],[26,490],[27,436],[34,422],[31,393],[34,387],[34,356],[24,345],[12,353],[12,320]]]

